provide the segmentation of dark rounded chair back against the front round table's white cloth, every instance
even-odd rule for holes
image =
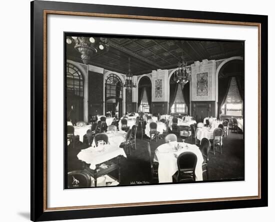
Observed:
[[[178,172],[181,171],[195,171],[197,157],[193,152],[182,152],[177,157]]]

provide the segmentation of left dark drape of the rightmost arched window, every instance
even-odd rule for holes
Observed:
[[[228,93],[231,78],[231,76],[228,76],[218,79],[217,118],[219,118],[221,106],[223,105],[226,95]]]

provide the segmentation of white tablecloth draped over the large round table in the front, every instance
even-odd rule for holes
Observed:
[[[180,145],[184,146],[178,151],[173,151],[168,143],[159,145],[156,148],[154,161],[158,161],[158,181],[159,182],[172,182],[172,175],[177,171],[177,156],[182,152],[193,152],[197,157],[195,167],[195,180],[202,179],[202,162],[203,157],[198,146],[189,143],[179,142]]]

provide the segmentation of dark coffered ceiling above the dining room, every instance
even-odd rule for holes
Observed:
[[[96,38],[95,38],[96,40]],[[109,50],[98,50],[91,55],[89,64],[105,69],[127,73],[128,57],[134,75],[149,73],[151,70],[177,67],[181,54],[187,65],[202,59],[222,59],[243,55],[241,41],[201,41],[144,38],[107,38]],[[66,44],[67,59],[82,62],[74,44]]]

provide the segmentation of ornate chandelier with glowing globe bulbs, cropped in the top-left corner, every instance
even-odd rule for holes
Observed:
[[[84,64],[87,64],[90,60],[90,56],[99,50],[105,49],[108,51],[109,45],[107,44],[107,38],[94,38],[83,36],[71,36],[66,38],[67,44],[74,43],[74,48],[80,52],[81,60]]]

